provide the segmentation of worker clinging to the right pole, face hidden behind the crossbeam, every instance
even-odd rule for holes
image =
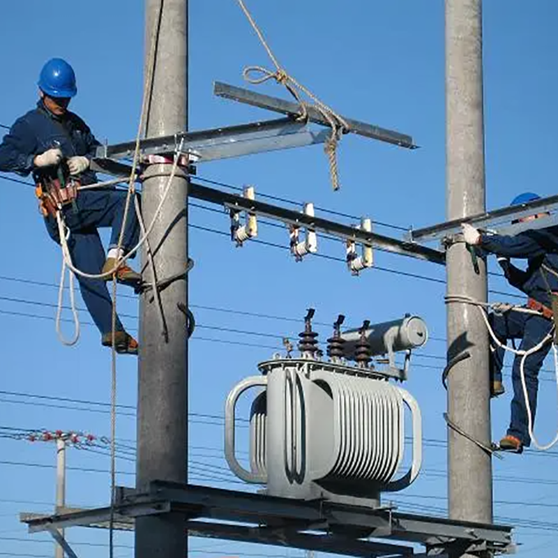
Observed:
[[[523,193],[515,197],[511,205],[525,204],[535,199],[540,199],[540,196],[534,193]],[[544,216],[548,216],[548,213],[529,216],[518,221],[525,222]],[[468,223],[463,223],[461,226],[465,242],[484,252],[495,254],[509,284],[529,297],[526,307],[539,312],[539,314],[532,314],[511,310],[503,314],[492,313],[490,324],[496,337],[504,345],[508,340],[520,339],[520,350],[532,349],[552,331],[551,294],[558,292],[558,227],[531,229],[515,236],[504,236],[481,233]],[[518,269],[511,264],[510,258],[527,259],[527,269],[525,271]],[[491,345],[495,344],[491,341]],[[533,421],[536,412],[538,372],[550,346],[550,342],[546,343],[525,359],[525,384]],[[495,397],[504,393],[502,384],[504,352],[502,347],[491,346],[491,395]],[[513,383],[511,421],[506,436],[500,441],[502,450],[515,453],[522,453],[523,448],[531,444],[520,362],[521,356],[516,355],[511,374]]]

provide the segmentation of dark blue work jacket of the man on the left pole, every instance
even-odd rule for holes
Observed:
[[[0,171],[27,176],[33,171],[33,159],[53,147],[59,147],[65,158],[76,155],[92,158],[100,143],[86,123],[73,112],[63,116],[52,114],[43,101],[17,119],[0,144]],[[96,174],[86,170],[80,175],[82,184],[93,184]]]

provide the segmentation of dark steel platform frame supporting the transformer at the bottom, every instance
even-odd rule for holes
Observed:
[[[179,511],[188,518],[186,529],[193,536],[288,545],[345,555],[412,555],[412,548],[397,544],[398,541],[420,543],[428,555],[439,555],[456,547],[466,548],[468,552],[506,552],[513,548],[511,527],[503,525],[165,481],[153,481],[142,490],[119,488],[116,504],[116,529],[132,529],[136,517]],[[63,510],[52,516],[22,514],[20,517],[29,525],[30,532],[77,525],[103,528],[107,527],[109,519],[110,507]],[[368,538],[383,542],[368,541]]]

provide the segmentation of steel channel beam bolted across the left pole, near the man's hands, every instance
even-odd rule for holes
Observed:
[[[263,151],[319,144],[326,140],[328,134],[328,130],[315,131],[306,123],[296,122],[291,118],[282,118],[226,128],[147,137],[140,140],[140,153],[142,155],[174,153],[182,144],[181,151],[190,153],[193,162],[204,163]],[[99,146],[96,150],[96,157],[130,158],[134,151],[135,141]]]

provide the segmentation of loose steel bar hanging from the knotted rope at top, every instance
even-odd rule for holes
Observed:
[[[243,89],[241,87],[236,87],[222,82],[215,82],[213,86],[213,94],[218,97],[239,101],[239,103],[246,103],[247,105],[252,105],[254,107],[288,114],[289,116],[300,116],[301,114],[298,103],[293,103],[292,101],[283,100],[277,97],[271,97],[269,95],[262,95],[262,93],[255,93],[249,89]],[[329,126],[329,123],[326,119],[324,119],[324,116],[312,107],[308,107],[308,118],[312,122]],[[349,132],[351,133],[370,137],[372,140],[379,140],[380,142],[387,142],[400,147],[406,147],[407,149],[416,149],[416,145],[413,143],[413,138],[410,135],[395,132],[393,130],[387,130],[386,128],[380,128],[379,126],[374,126],[373,124],[368,124],[358,120],[345,118],[345,116],[343,116],[343,118],[347,121],[347,124],[349,124]]]

